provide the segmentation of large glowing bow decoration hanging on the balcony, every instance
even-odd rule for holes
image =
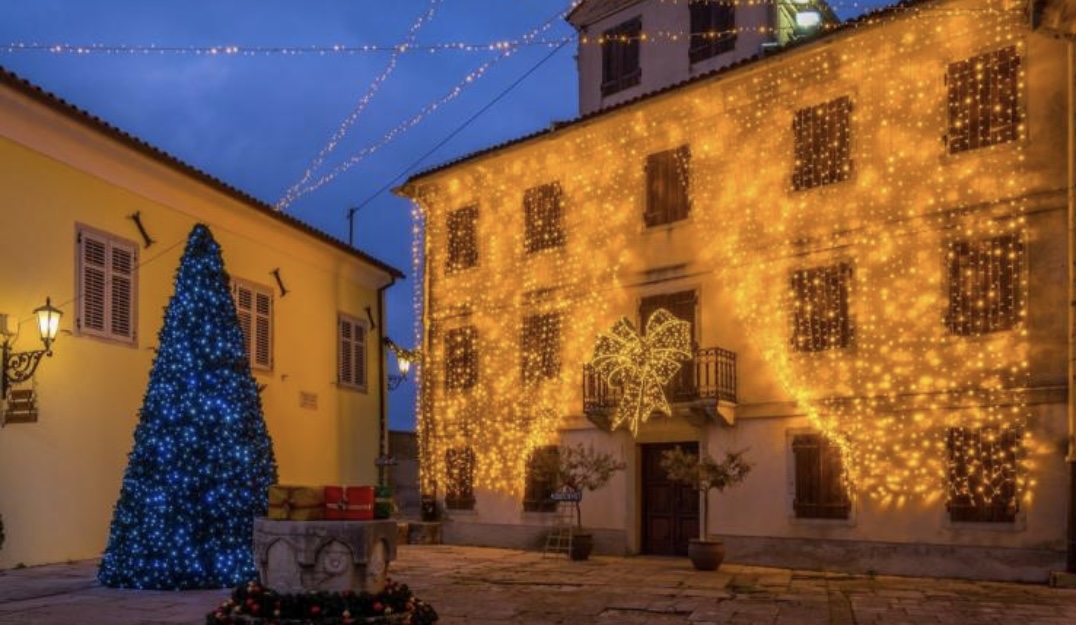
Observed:
[[[611,429],[627,423],[635,437],[639,424],[646,423],[652,413],[671,416],[664,385],[680,370],[680,363],[690,358],[691,324],[665,309],[650,315],[642,336],[627,317],[621,317],[610,331],[598,335],[591,367],[610,386],[624,392]]]

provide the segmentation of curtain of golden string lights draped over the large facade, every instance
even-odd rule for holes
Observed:
[[[893,506],[978,497],[1011,509],[1000,499],[1030,498],[1043,445],[1027,427],[1024,392],[1034,179],[1023,158],[1022,19],[999,1],[895,12],[833,45],[412,179],[428,350],[423,487],[444,482],[445,450],[470,446],[475,487],[521,493],[527,454],[579,427],[570,389],[600,329],[635,308],[638,285],[691,275],[716,285],[703,298],[709,336],[763,367],[838,445],[854,493]],[[946,106],[950,122],[937,127]],[[986,128],[975,147],[962,147],[966,128]],[[676,227],[692,233],[664,248],[663,228],[640,237],[642,162],[684,144],[691,209]],[[554,182],[564,236],[546,247],[522,209],[525,189]],[[447,216],[469,205],[481,216],[470,239],[479,260],[449,273]],[[698,244],[685,251],[689,239]],[[653,267],[651,246],[668,267]],[[567,319],[565,366],[523,385],[516,337],[541,312]],[[440,375],[456,364],[444,335],[458,327],[475,328],[479,380],[449,389]],[[976,477],[953,479],[958,466]]]

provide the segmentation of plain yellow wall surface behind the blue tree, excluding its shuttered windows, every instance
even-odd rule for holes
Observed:
[[[273,369],[255,371],[287,483],[374,483],[380,354],[369,336],[369,390],[340,389],[337,314],[377,315],[380,269],[212,190],[70,119],[0,90],[0,312],[24,322],[16,350],[40,347],[31,311],[63,310],[52,358],[36,377],[39,421],[0,431],[0,568],[96,557],[108,538],[153,347],[184,244],[210,226],[229,274],[272,287]],[[136,212],[156,241],[140,250],[138,341],[79,336],[75,224],[141,246]],[[280,297],[270,271],[280,269]],[[379,322],[380,325],[380,322]],[[315,410],[300,392],[317,396]]]

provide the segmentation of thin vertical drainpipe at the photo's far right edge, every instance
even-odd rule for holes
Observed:
[[[1068,549],[1065,570],[1076,573],[1076,48],[1068,47]]]

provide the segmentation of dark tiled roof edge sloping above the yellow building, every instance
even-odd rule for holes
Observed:
[[[168,154],[167,152],[160,150],[159,147],[151,145],[134,136],[125,132],[119,128],[116,128],[115,126],[109,124],[104,119],[101,119],[100,117],[87,111],[84,111],[83,109],[80,109],[74,104],[71,104],[70,102],[63,100],[62,98],[56,96],[55,94],[42,89],[38,85],[34,85],[28,80],[19,76],[18,74],[13,73],[12,71],[3,67],[0,67],[0,85],[4,85],[6,87],[15,89],[26,95],[27,97],[32,98],[38,102],[41,102],[42,104],[48,106],[49,109],[58,113],[61,113],[67,117],[80,124],[83,124],[84,126],[87,126],[113,139],[114,141],[156,160],[157,162],[160,162],[167,167],[174,169],[175,171],[179,171],[187,175],[188,177],[195,180],[196,182],[204,184],[216,191],[220,191],[239,202],[246,204],[247,207],[250,207],[255,211],[261,212],[273,219],[286,224],[287,226],[295,228],[296,230],[305,235],[308,235],[310,237],[313,237],[314,239],[317,239],[323,243],[326,243],[327,245],[330,245],[332,247],[336,247],[337,250],[340,250],[352,256],[355,256],[356,258],[384,271],[385,273],[390,274],[395,279],[402,279],[405,276],[404,272],[388,265],[387,262],[379,260],[360,250],[356,250],[348,245],[343,241],[340,241],[336,237],[332,237],[327,232],[318,230],[317,228],[314,228],[313,226],[310,226],[309,224],[300,219],[297,219],[291,215],[278,211],[273,207],[255,198],[254,196],[251,196],[250,194],[246,194],[245,191],[242,191],[221,181],[220,179],[213,177],[212,175],[206,173],[204,171],[201,171],[200,169],[187,165],[186,162],[180,160],[179,158],[172,156],[171,154]]]

